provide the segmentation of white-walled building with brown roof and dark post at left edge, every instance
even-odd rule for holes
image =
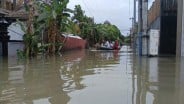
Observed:
[[[13,46],[13,42],[22,41],[24,32],[14,22],[16,19],[26,20],[28,16],[23,9],[23,3],[23,0],[0,1],[0,56],[8,56],[10,52],[16,54],[19,48],[15,49],[15,52],[12,49],[8,51],[9,46]]]

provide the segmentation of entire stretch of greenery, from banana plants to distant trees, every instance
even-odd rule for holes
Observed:
[[[122,41],[121,32],[115,25],[108,21],[96,24],[94,18],[85,15],[80,5],[71,10],[67,8],[68,3],[69,0],[51,0],[49,3],[31,0],[25,5],[28,20],[26,24],[20,21],[19,24],[25,32],[26,57],[40,51],[49,54],[60,51],[58,47],[63,43],[58,41],[58,37],[62,33],[79,35],[88,41],[90,47],[104,39]]]

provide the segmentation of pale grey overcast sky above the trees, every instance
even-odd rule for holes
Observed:
[[[123,35],[127,35],[132,25],[129,18],[133,14],[133,0],[70,0],[68,7],[74,9],[80,4],[85,14],[94,17],[96,23],[105,20],[116,25]]]

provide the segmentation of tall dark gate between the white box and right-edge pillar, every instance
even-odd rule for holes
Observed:
[[[176,54],[177,0],[160,0],[160,46],[161,55]]]

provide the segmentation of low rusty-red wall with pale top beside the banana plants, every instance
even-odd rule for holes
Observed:
[[[60,41],[63,44],[62,51],[73,50],[73,49],[85,49],[86,40],[79,36],[74,36],[73,34],[62,34]]]

